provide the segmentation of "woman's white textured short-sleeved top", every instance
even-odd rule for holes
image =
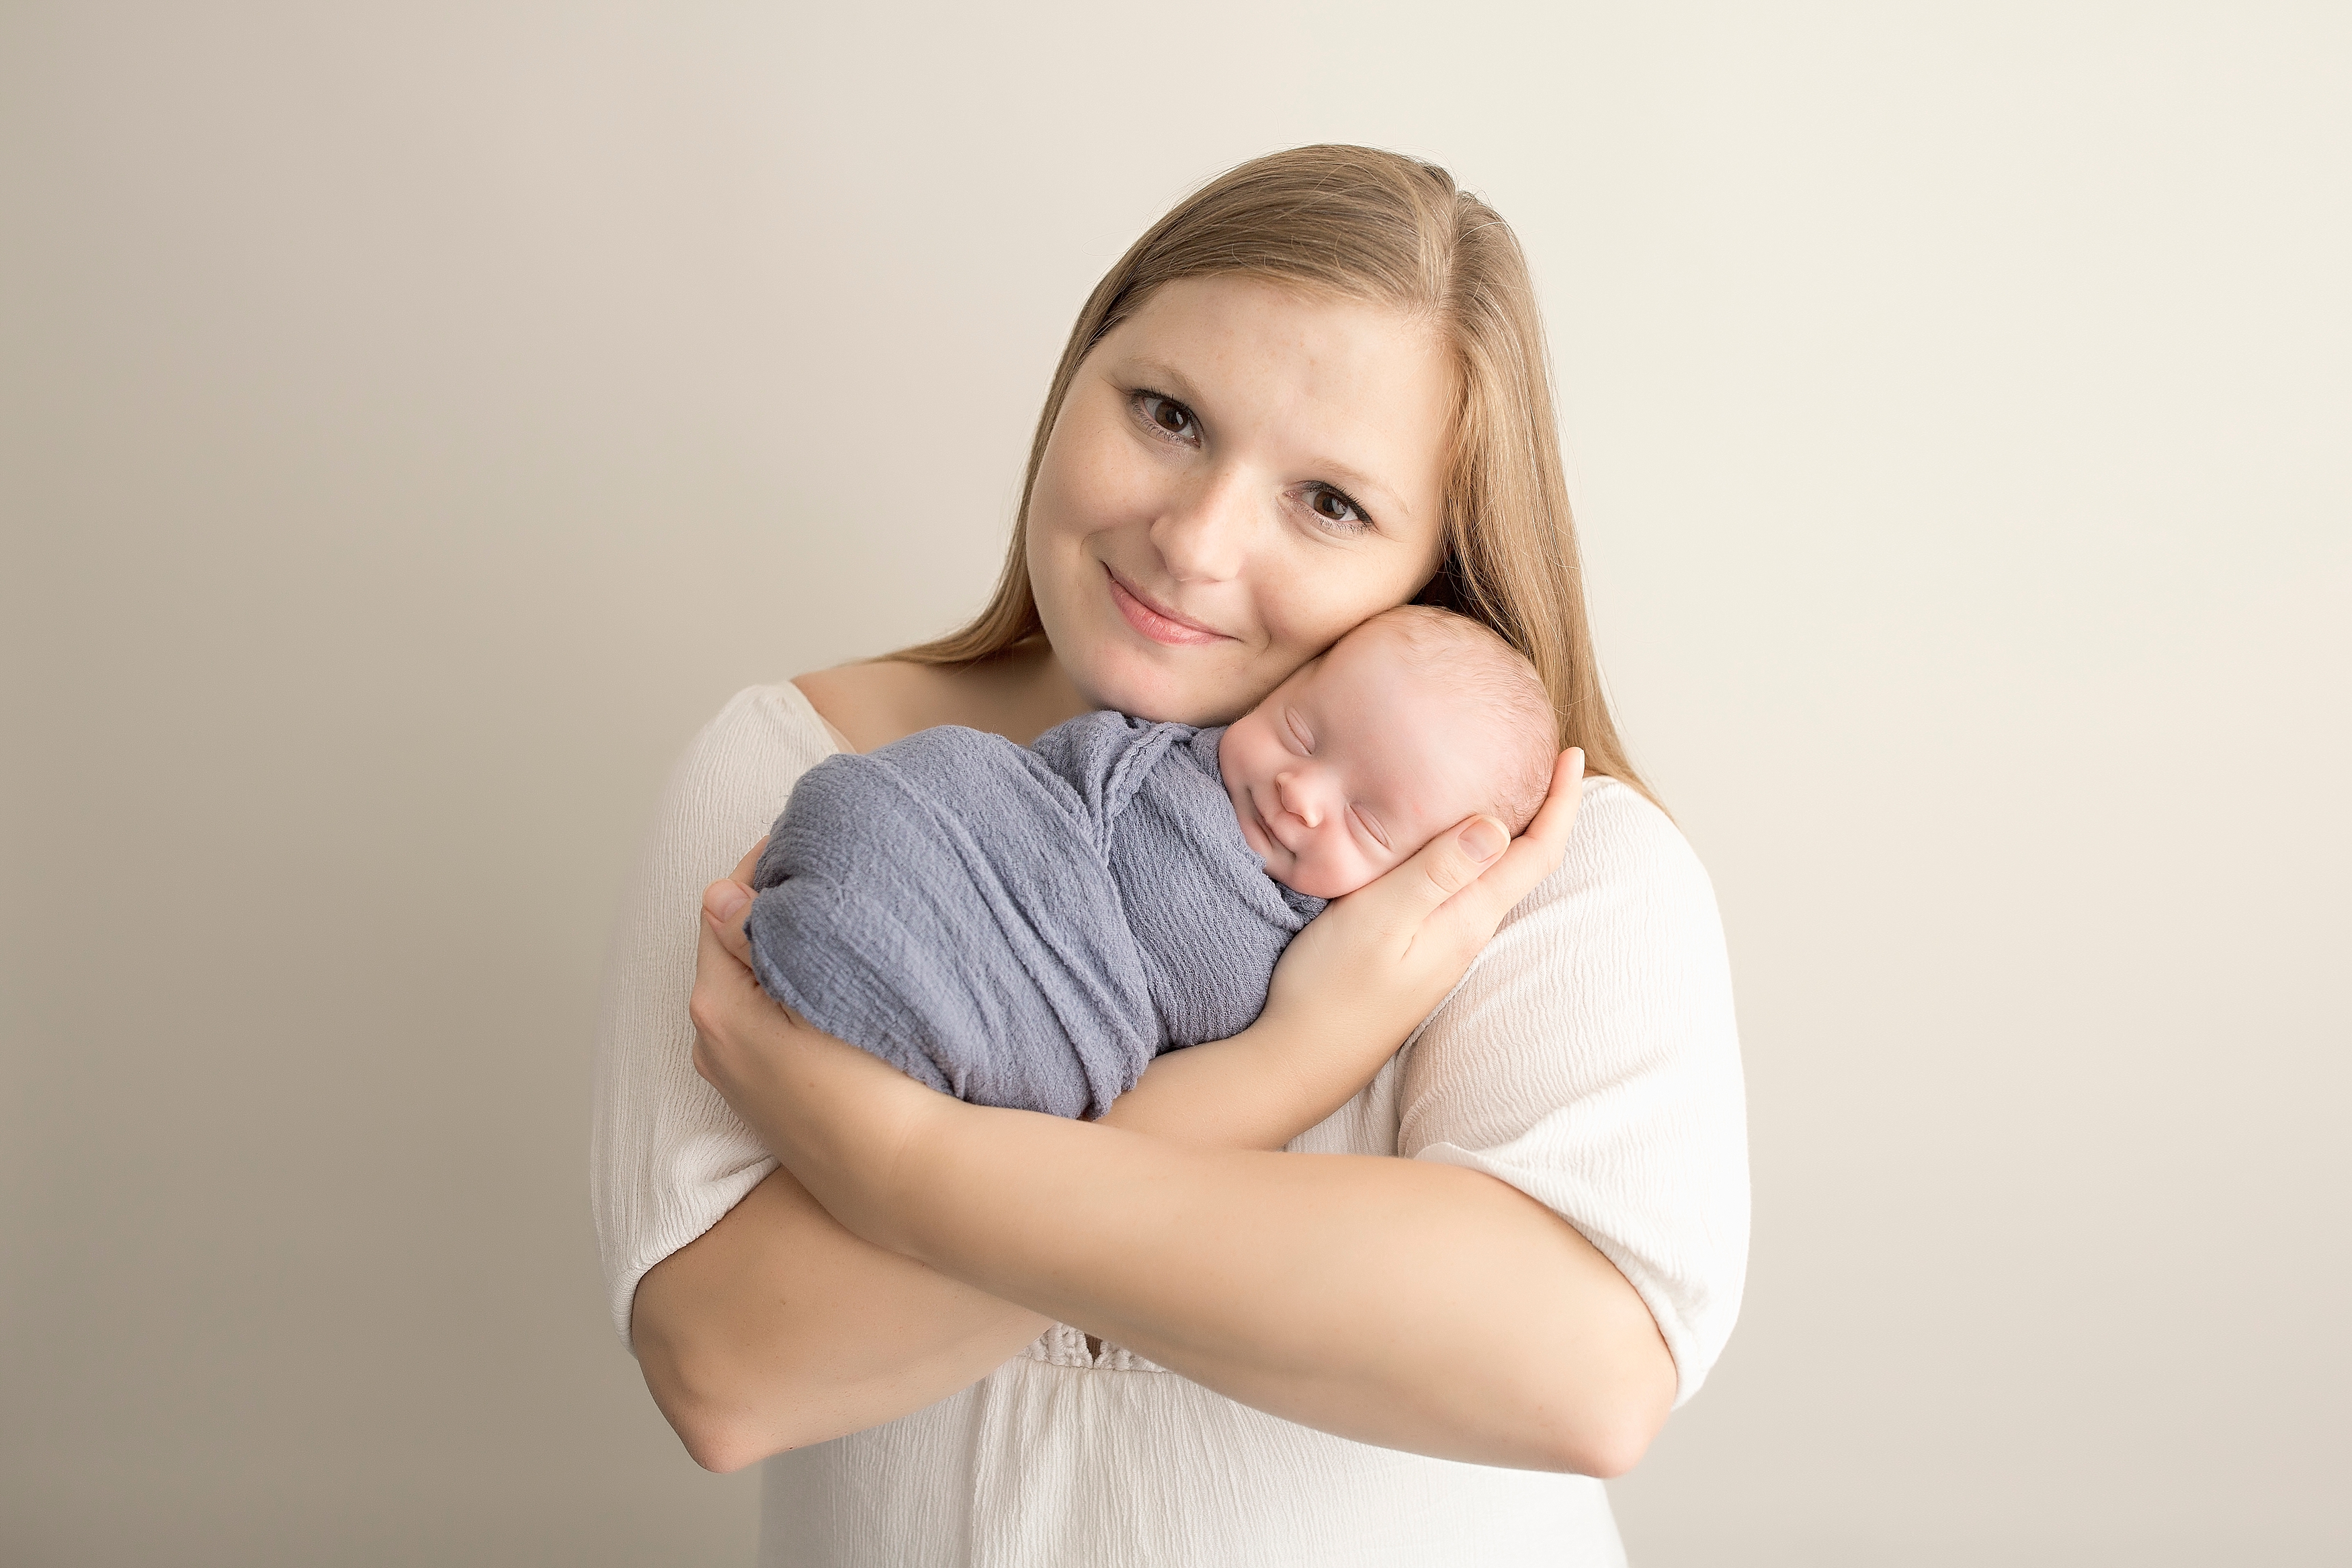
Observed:
[[[595,1220],[614,1326],[637,1279],[774,1161],[694,1074],[701,889],[833,752],[750,686],[663,795],[607,976]],[[1738,1316],[1748,1128],[1715,891],[1675,825],[1595,778],[1566,863],[1355,1100],[1291,1150],[1486,1171],[1623,1269],[1689,1399]],[[1599,1481],[1430,1460],[1251,1410],[1056,1324],[960,1394],[767,1462],[762,1568],[1623,1563]]]

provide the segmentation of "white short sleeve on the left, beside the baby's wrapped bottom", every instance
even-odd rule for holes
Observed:
[[[748,686],[694,738],[654,813],[604,964],[590,1192],[612,1321],[644,1272],[694,1241],[776,1168],[694,1072],[694,952],[703,889],[764,835],[793,780],[837,748],[797,686]]]

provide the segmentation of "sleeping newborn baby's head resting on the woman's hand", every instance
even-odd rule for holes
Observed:
[[[1235,719],[1216,766],[1265,872],[1338,898],[1475,811],[1522,832],[1552,733],[1536,665],[1468,616],[1406,604]]]

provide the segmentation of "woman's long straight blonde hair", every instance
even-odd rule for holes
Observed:
[[[1461,390],[1446,463],[1446,555],[1421,590],[1484,621],[1534,661],[1559,745],[1585,771],[1649,795],[1609,717],[1585,616],[1569,482],[1559,468],[1543,315],[1519,240],[1437,165],[1355,146],[1254,158],[1176,205],[1129,247],[1077,313],[1037,416],[1004,574],[962,630],[889,658],[964,665],[1042,637],[1028,576],[1028,508],[1077,367],[1164,282],[1242,273],[1430,320]]]

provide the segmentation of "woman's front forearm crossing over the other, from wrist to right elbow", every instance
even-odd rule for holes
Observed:
[[[948,1110],[866,1229],[1230,1399],[1583,1474],[1628,1469],[1672,1403],[1672,1359],[1625,1276],[1489,1175]]]

